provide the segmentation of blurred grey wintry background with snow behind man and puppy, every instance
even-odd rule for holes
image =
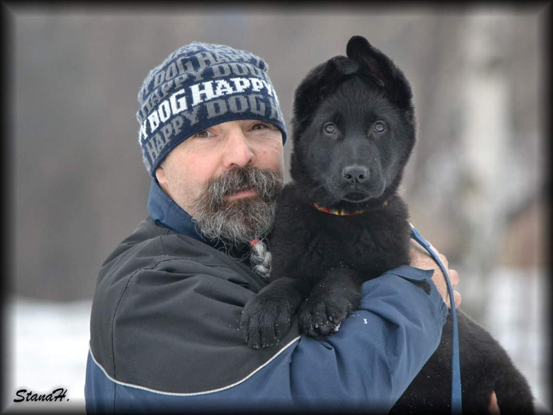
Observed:
[[[460,272],[461,308],[509,351],[538,407],[550,409],[550,3],[409,4],[3,3],[11,267],[0,409],[29,407],[13,403],[19,389],[64,387],[84,411],[97,271],[147,215],[135,112],[149,70],[191,41],[249,50],[268,61],[289,122],[299,81],[345,55],[352,35],[411,81],[418,142],[401,188],[411,222]]]

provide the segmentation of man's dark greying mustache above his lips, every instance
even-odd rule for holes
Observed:
[[[234,168],[207,182],[200,199],[209,210],[231,204],[225,196],[239,191],[254,190],[265,202],[273,202],[281,193],[283,179],[277,173],[255,167]]]

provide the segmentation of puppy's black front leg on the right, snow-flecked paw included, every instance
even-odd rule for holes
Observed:
[[[313,287],[299,309],[301,332],[312,337],[335,334],[361,300],[362,276],[347,268],[332,269]]]

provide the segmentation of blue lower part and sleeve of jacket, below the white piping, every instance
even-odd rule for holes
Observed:
[[[402,266],[365,282],[359,309],[336,334],[297,336],[252,373],[218,389],[174,393],[122,382],[110,376],[91,351],[87,412],[261,407],[388,412],[440,342],[448,311],[429,281],[432,273]]]

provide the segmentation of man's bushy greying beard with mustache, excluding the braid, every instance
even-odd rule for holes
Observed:
[[[194,220],[203,235],[232,248],[263,238],[272,228],[283,180],[259,168],[234,168],[210,180],[194,204]],[[227,200],[226,195],[253,189],[257,195]]]

